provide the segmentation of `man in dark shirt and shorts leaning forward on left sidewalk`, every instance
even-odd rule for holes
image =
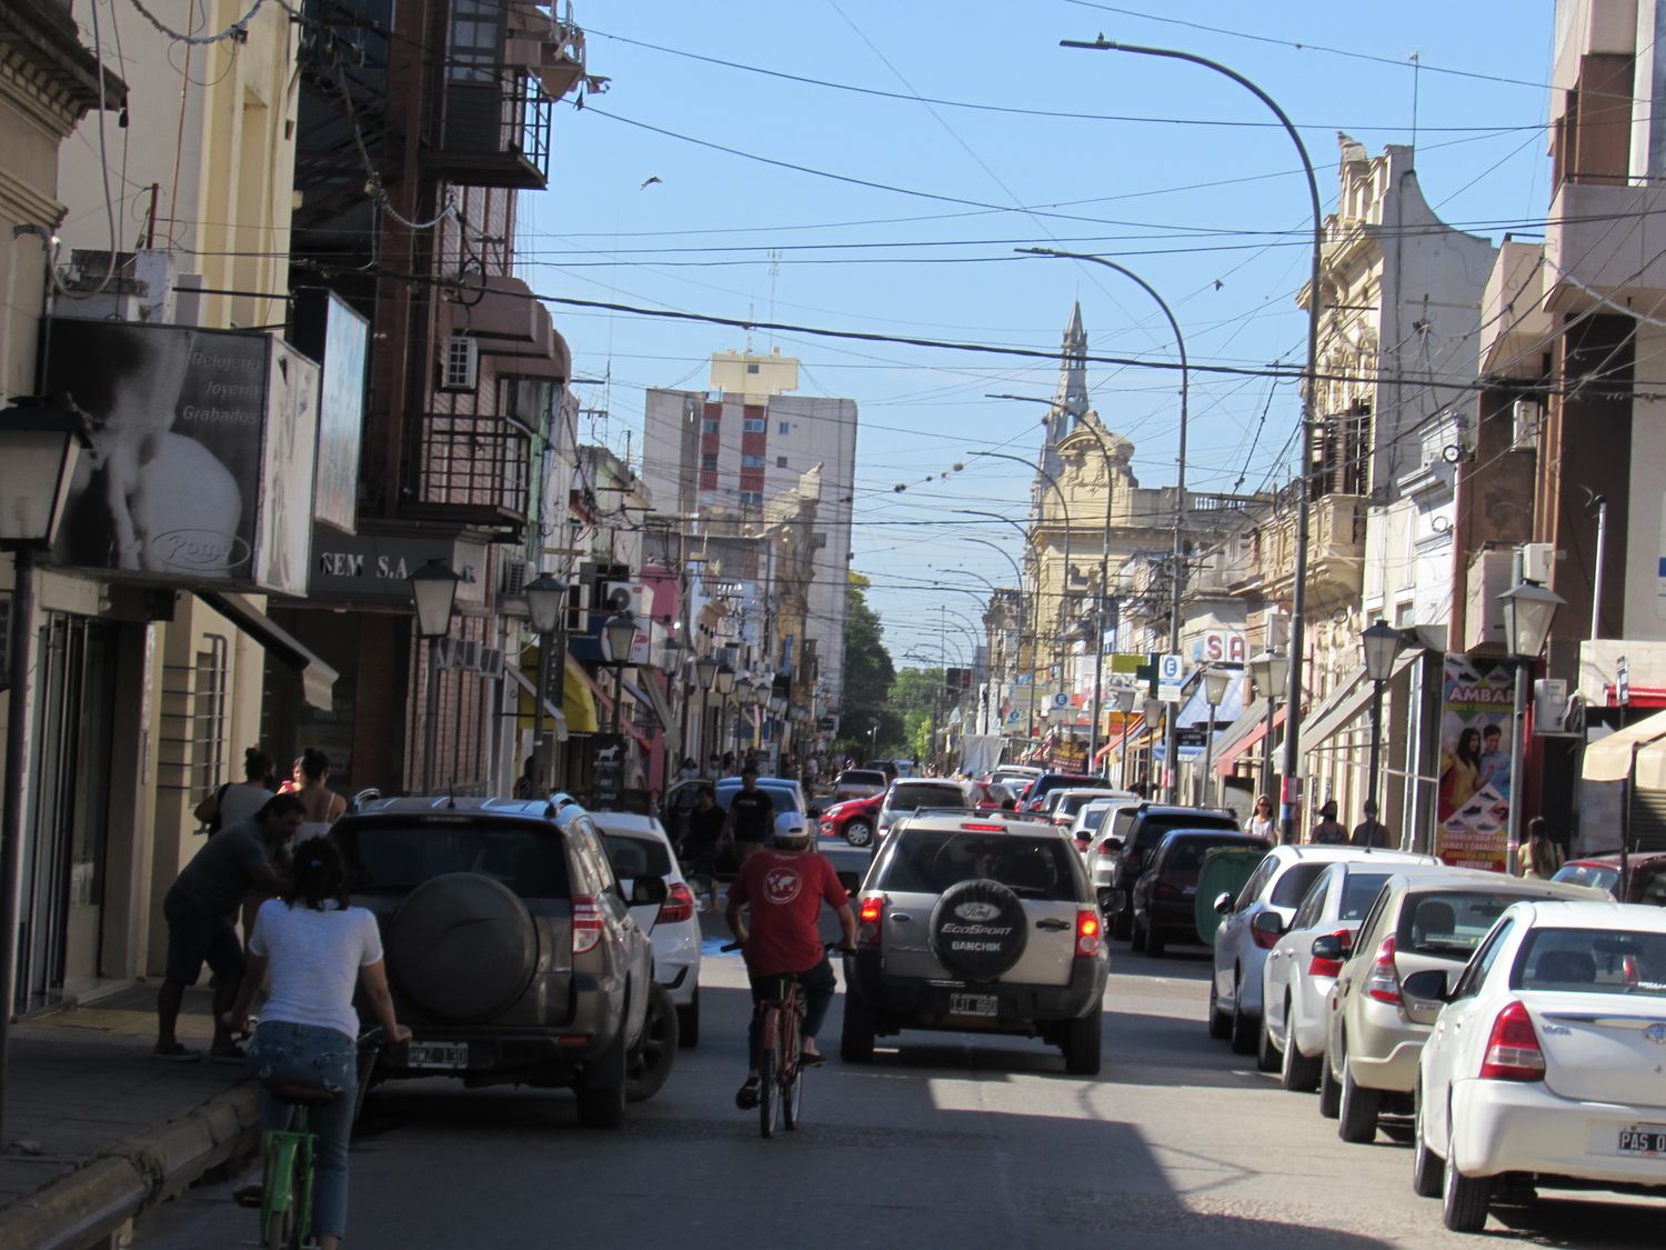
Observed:
[[[157,992],[155,1058],[193,1060],[175,1037],[185,987],[195,985],[203,963],[215,975],[212,1058],[243,1058],[222,1017],[232,1010],[243,983],[243,943],[237,937],[237,908],[252,893],[280,893],[283,878],[275,860],[307,818],[297,795],[273,795],[255,815],[233,820],[203,843],[168,887],[162,913],[168,920],[168,967]]]

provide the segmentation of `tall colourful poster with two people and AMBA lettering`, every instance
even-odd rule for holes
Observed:
[[[1506,872],[1509,865],[1514,680],[1508,662],[1446,657],[1434,850],[1461,868]]]

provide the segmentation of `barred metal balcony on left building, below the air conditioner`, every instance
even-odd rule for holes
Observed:
[[[490,530],[508,542],[523,538],[530,430],[506,417],[428,413],[413,457],[403,517]]]

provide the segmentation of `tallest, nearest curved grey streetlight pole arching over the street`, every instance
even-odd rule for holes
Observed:
[[[1309,503],[1309,470],[1313,467],[1313,428],[1316,425],[1314,408],[1318,405],[1318,373],[1319,373],[1319,308],[1324,303],[1324,287],[1321,285],[1321,253],[1324,248],[1324,210],[1319,205],[1319,180],[1313,173],[1313,160],[1308,157],[1308,145],[1301,142],[1301,133],[1291,123],[1284,110],[1278,107],[1278,102],[1256,87],[1253,82],[1245,78],[1236,70],[1230,70],[1220,62],[1210,60],[1208,57],[1200,57],[1193,52],[1176,52],[1175,48],[1148,48],[1136,43],[1111,43],[1106,38],[1098,38],[1093,43],[1080,43],[1071,40],[1063,40],[1066,48],[1093,48],[1096,52],[1133,52],[1141,57],[1166,57],[1170,60],[1183,60],[1193,65],[1201,65],[1206,70],[1215,70],[1235,83],[1254,95],[1261,103],[1264,103],[1273,117],[1278,118],[1279,125],[1284,127],[1284,133],[1289,135],[1291,143],[1296,145],[1296,155],[1301,157],[1301,168],[1308,175],[1308,200],[1313,208],[1313,255],[1309,257],[1308,267],[1308,385],[1301,397],[1301,473],[1298,487],[1298,507],[1296,513],[1296,567],[1294,567],[1294,587],[1289,597],[1289,687],[1284,700],[1284,780],[1279,797],[1279,837],[1284,842],[1296,840],[1296,823],[1298,812],[1296,803],[1299,795],[1296,793],[1296,777],[1301,768],[1301,657],[1306,650],[1306,622],[1303,620],[1308,610],[1308,543],[1311,542],[1311,530],[1308,523],[1308,503]],[[1514,810],[1514,805],[1511,805]]]

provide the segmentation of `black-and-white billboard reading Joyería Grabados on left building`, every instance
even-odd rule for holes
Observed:
[[[305,593],[312,362],[263,333],[58,318],[47,388],[92,440],[53,563]]]

